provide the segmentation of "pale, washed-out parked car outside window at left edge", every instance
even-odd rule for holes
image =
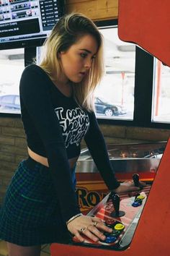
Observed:
[[[19,95],[8,94],[0,96],[0,108],[6,110],[20,110]]]

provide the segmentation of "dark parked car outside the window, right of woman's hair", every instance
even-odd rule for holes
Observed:
[[[123,106],[107,103],[106,100],[99,97],[94,99],[94,107],[97,114],[104,114],[105,116],[126,114],[126,110]]]

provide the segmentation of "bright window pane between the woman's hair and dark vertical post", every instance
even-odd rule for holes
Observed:
[[[117,27],[100,29],[104,36],[105,74],[95,92],[99,119],[133,120],[135,45],[122,42]]]

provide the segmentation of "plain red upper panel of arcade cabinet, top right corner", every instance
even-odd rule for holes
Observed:
[[[119,0],[118,35],[170,66],[170,1]]]

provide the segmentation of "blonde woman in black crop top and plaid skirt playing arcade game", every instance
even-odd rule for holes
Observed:
[[[40,255],[41,244],[66,239],[68,231],[80,242],[82,234],[97,241],[112,231],[99,218],[83,216],[76,200],[82,138],[108,189],[138,190],[117,182],[109,163],[92,101],[102,74],[102,35],[82,14],[62,17],[40,66],[24,69],[19,88],[29,158],[12,178],[0,218],[10,256]]]

